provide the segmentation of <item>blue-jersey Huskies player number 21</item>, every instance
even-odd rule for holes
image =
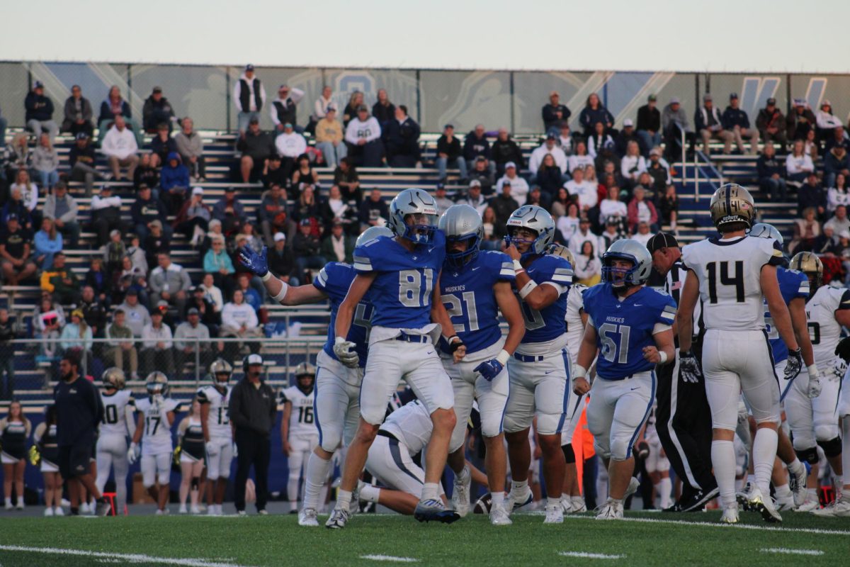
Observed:
[[[507,360],[525,332],[523,315],[511,284],[516,276],[513,262],[503,252],[480,252],[484,224],[469,205],[453,205],[439,219],[445,234],[445,263],[440,293],[458,337],[467,346],[463,361],[455,364],[449,346],[441,343],[440,359],[455,391],[457,422],[449,445],[449,466],[455,472],[451,502],[461,516],[469,511],[472,475],[464,447],[467,420],[478,400],[484,464],[492,494],[490,522],[511,524],[505,509],[505,455],[502,419],[507,404]],[[501,337],[499,311],[507,320],[507,338]]]

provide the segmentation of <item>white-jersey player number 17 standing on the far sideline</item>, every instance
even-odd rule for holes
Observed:
[[[167,514],[169,482],[171,481],[171,459],[173,439],[171,425],[174,412],[180,403],[168,396],[168,378],[160,371],[153,371],[145,378],[144,388],[148,396],[136,400],[139,418],[133,443],[127,451],[130,464],[139,457],[139,441],[142,443],[142,484],[150,497],[156,501],[156,515]],[[159,481],[157,490],[156,481]]]

